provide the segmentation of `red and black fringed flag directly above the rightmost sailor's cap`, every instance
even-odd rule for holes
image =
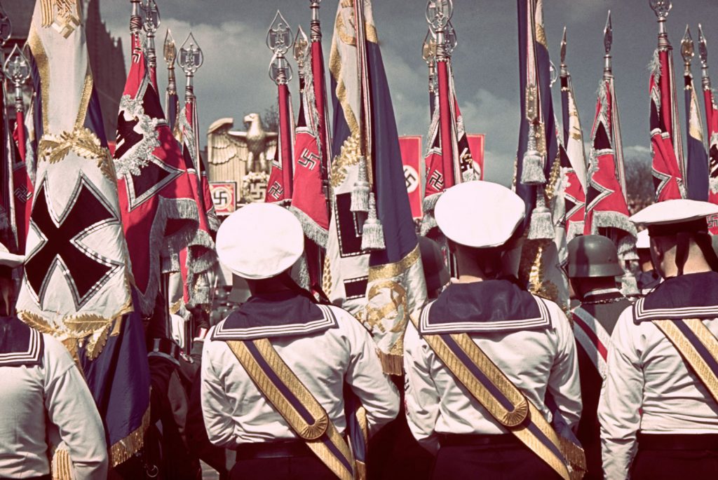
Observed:
[[[684,198],[685,168],[673,76],[673,47],[668,42],[666,32],[658,34],[658,48],[653,52],[648,93],[651,99],[649,120],[656,202]]]

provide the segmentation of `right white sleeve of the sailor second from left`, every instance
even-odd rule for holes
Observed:
[[[398,390],[382,371],[368,331],[346,312],[339,315],[345,319],[350,336],[350,363],[345,380],[366,409],[369,434],[373,435],[398,415]]]

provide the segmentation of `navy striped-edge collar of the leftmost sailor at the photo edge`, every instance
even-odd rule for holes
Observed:
[[[42,363],[42,334],[17,316],[0,316],[0,367],[34,367]]]

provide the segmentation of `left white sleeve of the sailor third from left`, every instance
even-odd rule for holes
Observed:
[[[404,371],[406,419],[411,434],[426,450],[436,453],[439,441],[434,427],[439,418],[440,397],[432,380],[429,346],[419,337],[413,324],[406,327],[404,337]]]

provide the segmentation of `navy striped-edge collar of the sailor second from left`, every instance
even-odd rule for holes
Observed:
[[[299,337],[337,327],[332,309],[293,291],[249,298],[221,321],[213,340],[253,340]]]

